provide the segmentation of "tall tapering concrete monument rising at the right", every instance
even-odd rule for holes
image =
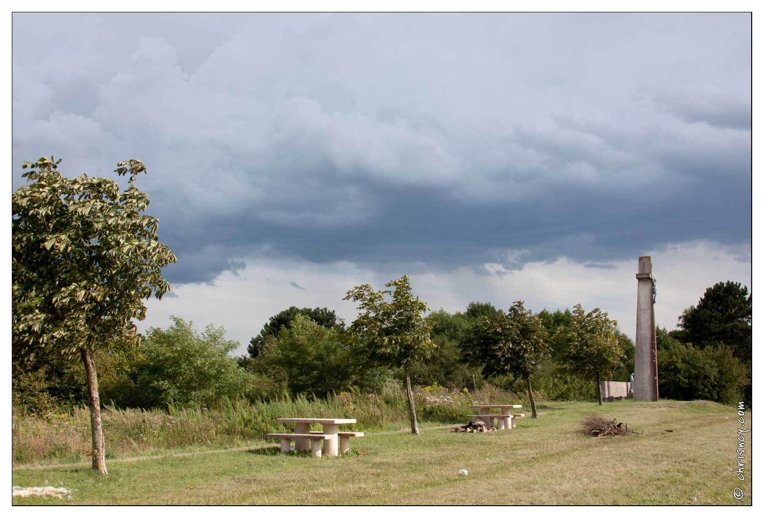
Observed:
[[[649,255],[639,257],[636,274],[636,351],[634,353],[634,399],[658,400],[658,353],[656,351],[656,280]]]

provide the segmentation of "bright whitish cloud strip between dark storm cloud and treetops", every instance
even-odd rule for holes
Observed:
[[[652,257],[658,284],[656,324],[675,329],[681,312],[697,304],[714,283],[733,280],[750,289],[751,264],[738,261],[740,252],[705,242],[646,251]],[[444,274],[412,274],[411,282],[413,293],[432,310],[464,311],[471,301],[490,302],[506,310],[515,300],[524,300],[535,312],[571,308],[575,303],[587,310],[599,307],[633,339],[637,259],[602,269],[563,258],[551,264],[528,263],[522,270],[504,275],[480,275],[460,268]],[[494,272],[500,268],[487,266]],[[381,290],[388,280],[404,273],[368,270],[347,262],[314,264],[251,258],[238,277],[225,273],[215,279],[214,286],[186,284],[173,287],[176,298],[151,299],[147,320],[139,322],[139,328],[167,327],[170,315],[193,320],[199,327],[210,322],[224,325],[229,338],[241,343],[235,354],[243,355],[249,339],[282,309],[328,307],[349,324],[358,312],[352,303],[342,300],[347,290],[362,283]],[[304,290],[295,290],[295,284]]]

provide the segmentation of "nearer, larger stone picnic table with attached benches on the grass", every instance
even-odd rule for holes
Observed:
[[[311,451],[314,456],[323,454],[336,457],[338,455],[338,439],[342,440],[342,453],[348,451],[351,437],[363,437],[364,432],[340,432],[340,425],[351,425],[355,419],[332,419],[328,417],[281,417],[276,422],[293,422],[294,433],[269,433],[268,437],[281,439],[281,451],[290,450],[290,440],[294,439],[294,448],[303,452]],[[313,423],[322,425],[322,432],[311,432]],[[285,445],[286,443],[286,445]]]

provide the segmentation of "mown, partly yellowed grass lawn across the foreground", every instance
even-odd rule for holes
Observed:
[[[578,434],[578,423],[592,413],[643,435]],[[746,429],[750,418],[746,410]],[[417,437],[401,423],[399,431],[351,439],[353,455],[344,458],[280,455],[267,443],[107,461],[108,478],[88,465],[15,468],[16,486],[73,493],[71,500],[14,497],[13,503],[749,504],[750,434],[746,480],[732,474],[736,419],[732,406],[702,401],[549,403],[539,419],[518,419],[511,431],[450,433],[452,426],[421,423]],[[462,468],[466,477],[457,474]],[[733,498],[735,487],[742,500]]]

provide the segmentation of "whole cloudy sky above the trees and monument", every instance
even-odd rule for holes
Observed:
[[[46,31],[37,31],[44,26]],[[432,309],[598,307],[634,337],[751,287],[748,14],[12,16],[21,162],[137,185],[170,316],[244,354],[289,306],[350,323],[409,274]]]

